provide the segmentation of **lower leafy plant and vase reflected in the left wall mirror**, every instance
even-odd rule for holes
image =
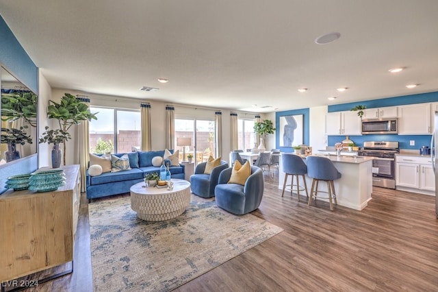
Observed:
[[[16,151],[16,145],[25,145],[25,143],[32,143],[32,138],[25,132],[27,125],[23,125],[20,129],[2,127],[1,128],[1,142],[8,145],[8,151],[5,151],[6,162],[20,158],[20,152]]]

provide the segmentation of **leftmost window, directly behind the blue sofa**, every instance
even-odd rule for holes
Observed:
[[[140,150],[140,110],[90,107],[97,121],[90,122],[90,153],[125,153]]]

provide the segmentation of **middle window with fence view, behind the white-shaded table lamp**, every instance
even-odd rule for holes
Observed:
[[[191,145],[179,146],[178,138],[181,137],[191,138]],[[189,154],[193,156],[195,164],[207,161],[210,155],[215,156],[216,154],[214,121],[175,119],[175,145],[175,150],[179,150],[180,161],[183,161],[183,147],[185,147],[186,161]]]

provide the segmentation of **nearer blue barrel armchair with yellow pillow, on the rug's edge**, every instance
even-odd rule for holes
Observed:
[[[216,205],[235,215],[244,215],[259,208],[263,197],[263,171],[259,167],[251,167],[251,175],[241,184],[229,184],[233,169],[230,167],[219,175],[216,186]]]

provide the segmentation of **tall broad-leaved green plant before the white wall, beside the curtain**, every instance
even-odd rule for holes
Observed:
[[[59,145],[59,143],[64,145],[64,165],[66,165],[66,141],[71,138],[70,134],[68,134],[68,130],[70,130],[72,125],[78,125],[81,121],[91,121],[92,119],[97,120],[96,114],[97,112],[92,114],[85,102],[77,99],[74,95],[70,95],[70,93],[65,93],[64,96],[61,97],[59,104],[55,101],[49,100],[47,117],[49,117],[49,119],[57,119],[58,121],[60,127],[58,129],[59,131],[52,132],[52,134],[58,138],[57,145]],[[46,133],[48,133],[47,130],[48,127],[46,127]],[[44,138],[43,140],[40,139],[40,143],[44,142]]]

